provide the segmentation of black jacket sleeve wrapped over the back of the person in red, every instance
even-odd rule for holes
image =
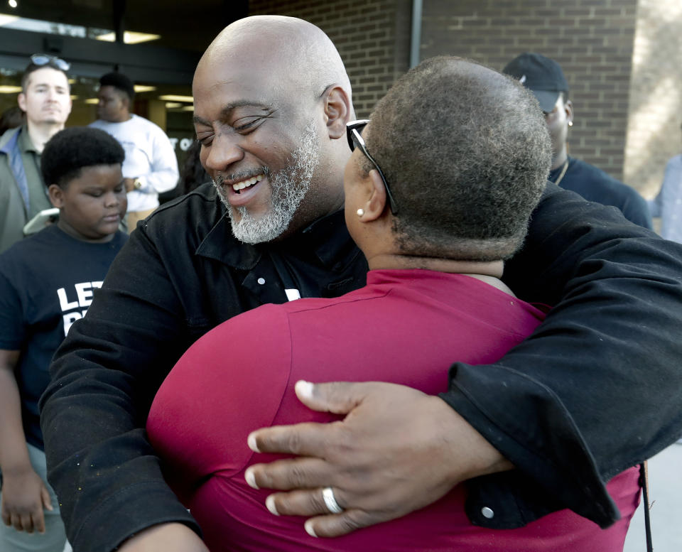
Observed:
[[[682,433],[682,246],[548,185],[504,279],[556,306],[496,364],[453,365],[442,397],[516,465],[511,493],[551,497],[524,523],[568,507],[608,526],[605,481]]]

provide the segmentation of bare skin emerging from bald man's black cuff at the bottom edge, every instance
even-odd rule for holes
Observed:
[[[118,552],[209,552],[199,536],[185,524],[148,527],[124,541]]]

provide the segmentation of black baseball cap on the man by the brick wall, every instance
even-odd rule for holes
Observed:
[[[502,72],[531,90],[546,113],[554,109],[561,92],[568,92],[568,82],[561,65],[541,54],[526,52],[517,55]]]

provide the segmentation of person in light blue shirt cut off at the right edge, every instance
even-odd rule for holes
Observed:
[[[682,154],[666,164],[659,193],[649,200],[652,217],[661,217],[661,236],[682,243]]]

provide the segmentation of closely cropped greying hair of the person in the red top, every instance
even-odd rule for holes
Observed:
[[[551,141],[519,82],[470,60],[425,60],[379,101],[364,136],[400,206],[404,252],[493,261],[521,246]]]

